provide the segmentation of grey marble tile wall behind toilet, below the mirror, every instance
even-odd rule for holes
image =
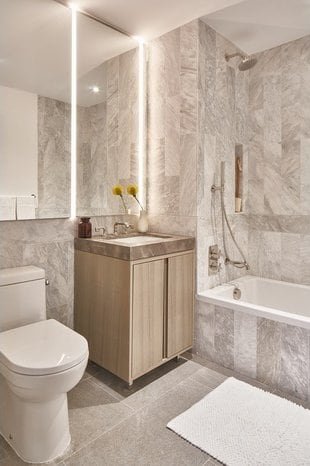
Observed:
[[[50,281],[46,288],[47,316],[69,327],[73,325],[75,230],[75,222],[69,219],[0,224],[0,268],[42,267]]]

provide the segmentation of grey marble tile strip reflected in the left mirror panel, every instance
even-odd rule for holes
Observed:
[[[36,218],[70,216],[71,106],[38,97],[38,208]]]

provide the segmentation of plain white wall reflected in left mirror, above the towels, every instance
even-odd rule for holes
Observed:
[[[38,193],[38,97],[0,86],[0,196]]]

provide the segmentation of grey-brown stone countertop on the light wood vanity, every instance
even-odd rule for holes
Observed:
[[[99,254],[101,256],[115,257],[127,261],[147,259],[156,256],[165,256],[195,248],[195,238],[189,236],[164,235],[160,233],[147,233],[147,236],[158,236],[156,243],[143,245],[123,245],[111,242],[111,238],[94,236],[93,238],[75,238],[74,247],[79,251]],[[143,234],[131,234],[128,236],[145,236]],[[127,237],[128,237],[127,236]],[[121,237],[119,237],[121,238]],[[123,236],[122,238],[125,238]],[[161,241],[162,239],[162,241]]]

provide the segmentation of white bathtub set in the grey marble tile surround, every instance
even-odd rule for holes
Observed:
[[[234,283],[241,290],[239,300],[233,297]],[[310,286],[248,275],[201,292],[197,299],[310,329]]]

